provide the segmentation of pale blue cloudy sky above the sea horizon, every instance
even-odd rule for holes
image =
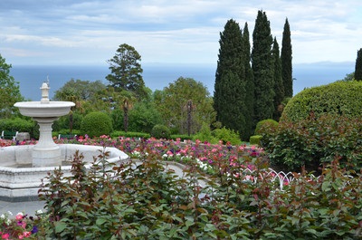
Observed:
[[[259,10],[293,63],[355,62],[361,0],[1,0],[0,54],[14,65],[103,65],[122,43],[142,63],[215,64],[230,19],[251,34]]]

